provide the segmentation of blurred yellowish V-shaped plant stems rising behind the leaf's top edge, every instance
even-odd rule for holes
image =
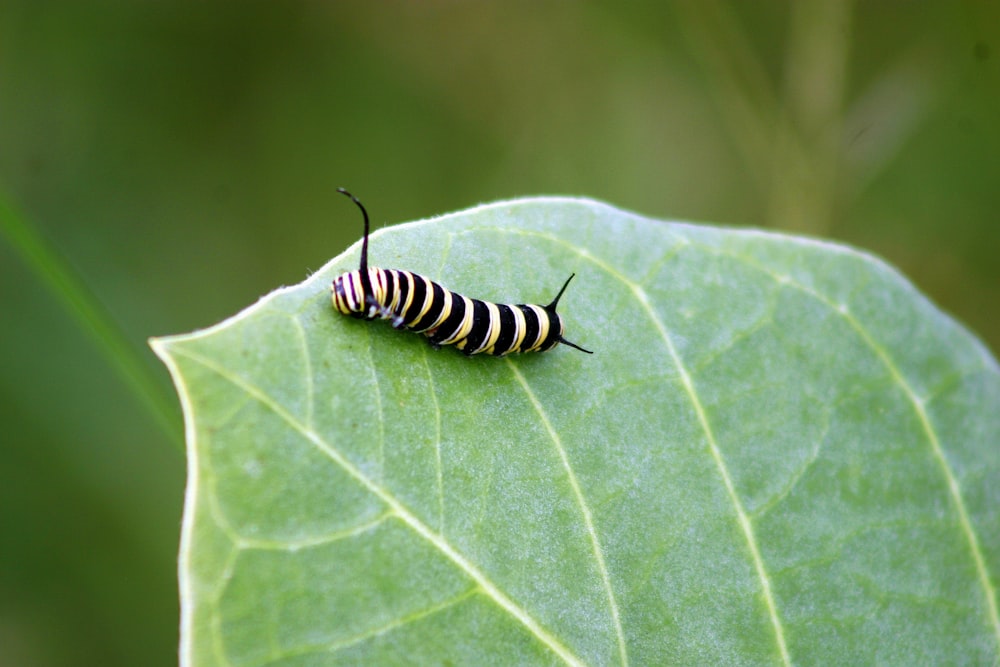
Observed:
[[[733,145],[762,193],[766,225],[828,233],[842,161],[850,0],[791,5],[782,90],[731,5],[677,8]]]

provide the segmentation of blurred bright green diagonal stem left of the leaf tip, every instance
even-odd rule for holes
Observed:
[[[0,236],[21,256],[25,265],[51,290],[53,296],[97,345],[97,348],[149,411],[169,440],[181,451],[184,439],[180,413],[172,396],[164,392],[136,346],[103,307],[81,276],[38,230],[20,216],[0,193]]]

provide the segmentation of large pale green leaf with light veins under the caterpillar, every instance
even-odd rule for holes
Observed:
[[[187,417],[184,664],[1000,659],[1000,373],[893,269],[575,199],[370,253],[500,302],[576,272],[595,354],[343,317],[357,247],[154,341]]]

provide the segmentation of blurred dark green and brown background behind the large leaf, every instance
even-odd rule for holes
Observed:
[[[579,194],[845,241],[996,351],[1000,3],[0,1],[0,665],[175,663],[145,340],[356,240],[340,185],[376,224]]]

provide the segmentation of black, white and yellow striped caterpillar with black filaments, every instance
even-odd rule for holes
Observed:
[[[337,192],[350,197],[365,219],[360,266],[337,276],[330,287],[338,312],[365,320],[391,320],[396,329],[424,334],[435,348],[454,345],[467,355],[545,352],[559,343],[593,354],[562,337],[556,306],[572,275],[547,306],[508,306],[470,299],[410,271],[369,267],[368,211],[344,188]]]

